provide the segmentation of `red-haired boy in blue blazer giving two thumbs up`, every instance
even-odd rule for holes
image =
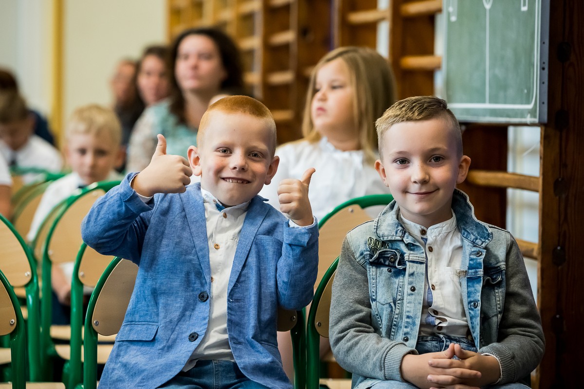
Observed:
[[[312,297],[314,169],[280,184],[288,218],[257,196],[278,166],[276,124],[246,96],[208,108],[189,162],[166,155],[164,136],[158,142],[150,164],[82,223],[89,246],[139,267],[100,388],[292,388],[277,307],[301,309]],[[200,183],[185,187],[193,173]]]

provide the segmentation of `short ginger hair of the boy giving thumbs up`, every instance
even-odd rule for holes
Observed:
[[[226,96],[211,104],[201,118],[199,132],[197,132],[197,146],[200,147],[203,143],[203,137],[211,122],[213,111],[221,111],[226,114],[248,114],[265,121],[267,129],[272,135],[272,142],[268,146],[272,156],[274,156],[276,152],[276,122],[274,122],[274,117],[265,105],[249,96]]]

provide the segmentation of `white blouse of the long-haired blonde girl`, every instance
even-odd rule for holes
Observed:
[[[276,149],[276,155],[280,157],[276,175],[272,183],[259,192],[276,209],[280,209],[277,195],[280,181],[284,178],[300,180],[310,167],[316,172],[310,181],[308,198],[318,220],[354,197],[390,192],[373,165],[365,162],[362,150],[338,150],[326,138],[314,143],[305,140],[286,143]],[[371,207],[367,212],[374,217],[381,209]]]

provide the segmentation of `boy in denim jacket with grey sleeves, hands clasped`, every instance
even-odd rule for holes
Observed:
[[[456,117],[444,100],[410,97],[376,125],[395,201],[343,242],[337,362],[358,389],[525,388],[544,352],[540,316],[516,241],[456,189],[470,165]]]

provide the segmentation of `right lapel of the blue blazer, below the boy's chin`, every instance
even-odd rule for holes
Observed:
[[[235,280],[239,277],[241,268],[244,267],[245,259],[248,257],[253,239],[258,233],[259,226],[262,225],[268,209],[267,206],[263,206],[263,201],[258,196],[254,197],[251,204],[249,204],[248,213],[245,215],[244,225],[241,228],[241,233],[239,234],[239,240],[237,242],[237,249],[235,250],[235,258],[231,267],[227,293],[231,292]]]

